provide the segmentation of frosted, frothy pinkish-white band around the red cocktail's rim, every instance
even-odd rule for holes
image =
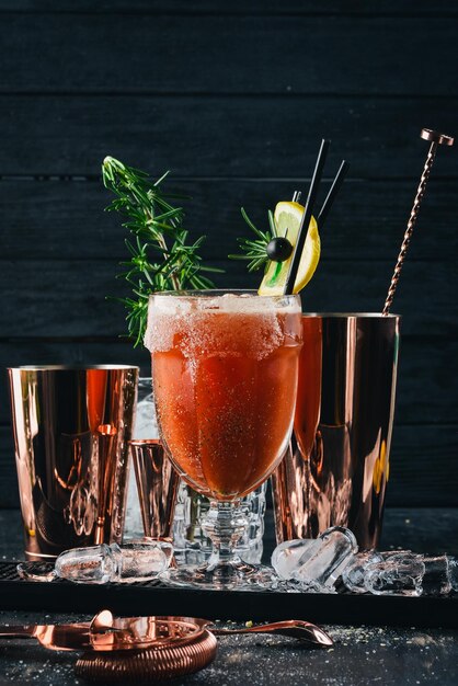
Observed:
[[[145,345],[151,353],[176,347],[188,358],[239,354],[262,359],[284,343],[284,315],[297,311],[296,305],[282,307],[249,294],[156,296]]]

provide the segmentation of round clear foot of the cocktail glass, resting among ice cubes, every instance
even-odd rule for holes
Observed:
[[[278,583],[271,567],[244,562],[179,567],[163,572],[160,580],[171,586],[207,591],[273,591]]]

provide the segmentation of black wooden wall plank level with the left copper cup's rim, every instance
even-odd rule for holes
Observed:
[[[116,310],[116,308],[115,308]],[[117,310],[121,313],[122,310]],[[396,419],[400,424],[453,424],[458,397],[458,342],[434,336],[403,336]],[[123,339],[18,340],[0,343],[0,423],[9,421],[4,367],[26,364],[135,364],[149,376],[149,355]]]

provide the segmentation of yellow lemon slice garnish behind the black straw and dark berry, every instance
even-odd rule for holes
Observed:
[[[297,235],[305,208],[299,203],[278,203],[275,207],[274,218],[278,236],[285,236],[296,247]],[[293,293],[299,293],[309,283],[320,261],[321,242],[314,217],[311,217],[306,244],[300,258],[299,268],[296,276]],[[293,255],[285,262],[271,262],[257,290],[260,296],[282,295],[285,288],[286,277],[289,272]]]

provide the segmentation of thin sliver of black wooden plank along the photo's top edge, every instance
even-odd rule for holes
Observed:
[[[277,2],[277,0],[233,0],[224,2],[221,0],[162,0],[161,2],[151,0],[0,0],[0,11],[21,11],[34,13],[60,14],[69,12],[90,12],[93,14],[105,12],[123,13],[147,13],[147,14],[218,14],[218,15],[334,15],[348,14],[352,16],[386,16],[386,15],[410,15],[410,16],[456,16],[457,11],[450,0],[327,0],[317,3],[316,0],[288,0]]]

